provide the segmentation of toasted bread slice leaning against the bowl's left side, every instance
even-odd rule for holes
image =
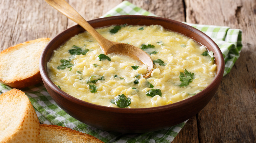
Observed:
[[[24,88],[42,81],[39,58],[50,38],[26,41],[0,53],[0,81],[13,88]]]

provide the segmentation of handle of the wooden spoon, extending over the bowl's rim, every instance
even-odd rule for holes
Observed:
[[[74,8],[72,8],[65,0],[45,0],[53,8],[73,20],[75,23],[82,26],[88,31],[99,43],[100,46],[108,43],[111,46],[111,42],[100,35]]]

